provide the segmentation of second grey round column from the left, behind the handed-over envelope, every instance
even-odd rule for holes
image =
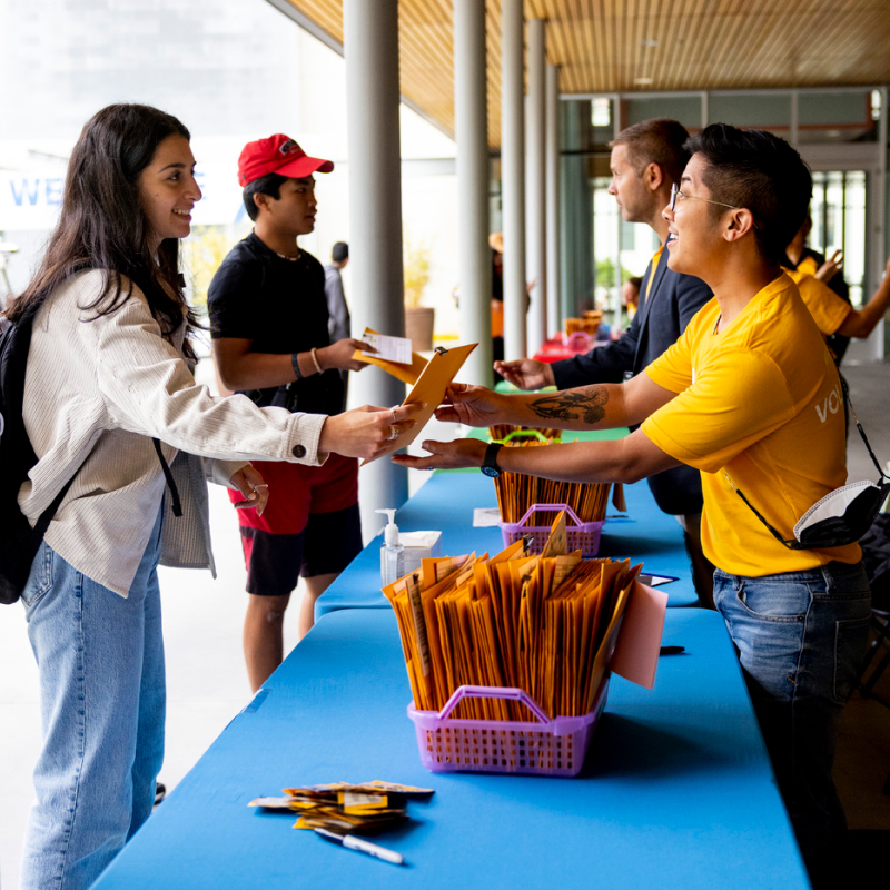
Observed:
[[[454,0],[454,130],[461,220],[461,343],[478,343],[461,372],[492,386],[492,263],[488,249],[488,125],[485,4]]]

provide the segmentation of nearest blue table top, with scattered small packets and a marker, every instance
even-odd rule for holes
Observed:
[[[418,760],[392,612],[316,627],[168,795],[100,890],[808,887],[722,620],[668,611],[653,691],[612,679],[577,779],[435,774]],[[382,835],[407,868],[295,831],[259,794],[335,780],[434,788]]]

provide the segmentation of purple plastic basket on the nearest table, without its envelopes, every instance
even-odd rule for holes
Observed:
[[[577,775],[605,708],[609,674],[593,710],[584,716],[551,720],[527,692],[514,688],[459,686],[439,713],[408,705],[421,763],[432,772],[510,772]],[[448,714],[465,698],[522,702],[541,722],[457,720]]]

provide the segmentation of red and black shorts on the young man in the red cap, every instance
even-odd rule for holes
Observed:
[[[323,466],[253,464],[269,500],[261,516],[238,511],[248,593],[281,596],[300,575],[342,572],[362,551],[358,461],[332,454]],[[229,490],[229,500],[244,498]]]

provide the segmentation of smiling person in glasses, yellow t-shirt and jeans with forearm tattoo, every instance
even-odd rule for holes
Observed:
[[[438,412],[471,426],[642,426],[613,442],[537,448],[424,442],[428,456],[393,459],[589,482],[636,482],[681,463],[700,469],[714,602],[812,871],[829,832],[844,825],[831,763],[864,652],[869,583],[858,544],[788,548],[753,512],[793,540],[798,520],[847,478],[838,370],[780,268],[812,181],[798,152],[764,131],[712,125],[688,147],[664,210],[669,267],[696,275],[714,298],[680,339],[623,385],[513,396],[457,385]]]

